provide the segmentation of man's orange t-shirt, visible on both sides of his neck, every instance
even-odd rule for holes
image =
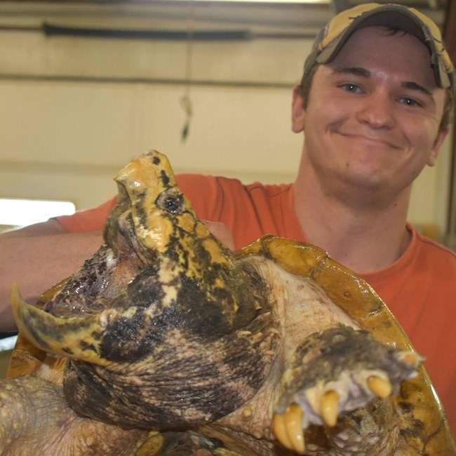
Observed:
[[[293,208],[293,185],[243,185],[206,175],[177,175],[200,218],[223,222],[241,248],[263,234],[307,241]],[[58,217],[69,232],[102,228],[116,198],[98,208]],[[426,361],[456,434],[456,253],[410,224],[411,242],[389,267],[361,274],[382,297]]]

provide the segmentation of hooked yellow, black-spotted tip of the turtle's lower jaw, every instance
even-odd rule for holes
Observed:
[[[11,308],[20,332],[43,351],[98,366],[111,364],[100,356],[99,349],[109,311],[96,316],[58,318],[22,300],[16,283],[11,289]]]

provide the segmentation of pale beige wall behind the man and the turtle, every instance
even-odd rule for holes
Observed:
[[[182,27],[141,14],[126,20],[100,11],[51,13],[9,20]],[[189,49],[181,41],[0,31],[0,197],[65,199],[88,208],[112,196],[112,176],[147,149],[168,154],[177,172],[293,180],[302,138],[290,131],[290,90],[309,47],[304,39],[253,39]],[[189,51],[198,85],[191,87],[193,116],[182,142]],[[416,182],[412,222],[443,229],[448,161],[447,142],[438,165]]]

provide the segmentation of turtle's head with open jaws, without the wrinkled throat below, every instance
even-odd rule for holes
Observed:
[[[143,342],[154,344],[149,334],[165,328],[215,335],[250,321],[246,274],[196,217],[166,156],[142,154],[114,179],[119,196],[104,243],[40,305],[14,288],[18,328],[41,349],[105,366],[142,358]]]

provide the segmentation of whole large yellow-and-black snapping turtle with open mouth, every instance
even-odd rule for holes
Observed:
[[[356,274],[264,236],[233,254],[166,156],[116,176],[104,243],[35,306],[0,383],[2,455],[451,455],[407,337]]]

